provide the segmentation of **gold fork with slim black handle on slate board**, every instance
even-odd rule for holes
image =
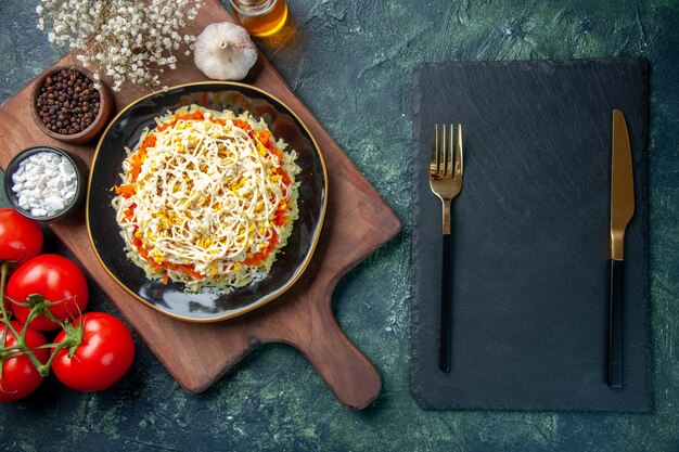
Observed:
[[[448,133],[446,133],[448,128]],[[444,205],[444,264],[441,271],[440,344],[438,366],[450,371],[450,203],[462,190],[462,125],[458,124],[453,140],[453,126],[441,125],[440,142],[438,125],[434,126],[432,157],[430,159],[430,186]],[[454,155],[453,155],[454,144]]]

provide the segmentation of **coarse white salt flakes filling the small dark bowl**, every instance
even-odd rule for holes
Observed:
[[[52,217],[76,195],[76,169],[63,155],[40,152],[22,160],[12,175],[18,206],[34,217]]]

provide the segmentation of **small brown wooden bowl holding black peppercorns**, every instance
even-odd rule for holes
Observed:
[[[38,100],[38,95],[40,94],[40,90],[42,89],[42,86],[44,85],[44,81],[47,80],[47,78],[56,75],[61,69],[76,70],[85,75],[91,80],[94,79],[90,70],[80,66],[54,66],[54,67],[47,69],[36,79],[36,81],[34,82],[33,89],[30,91],[30,114],[33,116],[34,121],[38,126],[38,128],[46,135],[53,138],[54,140],[64,142],[64,143],[73,143],[73,144],[87,143],[88,141],[93,140],[99,134],[99,132],[102,131],[104,126],[106,126],[106,122],[113,111],[113,96],[108,88],[104,85],[104,82],[100,80],[99,81],[99,85],[100,85],[99,113],[97,114],[97,117],[94,118],[94,120],[92,120],[92,122],[89,125],[87,129],[80,130],[79,132],[72,133],[72,134],[57,133],[48,129],[42,122],[42,119],[40,118],[40,114],[38,112],[37,100]]]

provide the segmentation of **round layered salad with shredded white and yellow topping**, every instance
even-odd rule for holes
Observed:
[[[247,113],[191,106],[156,122],[115,188],[128,257],[192,290],[266,275],[298,216],[296,153]]]

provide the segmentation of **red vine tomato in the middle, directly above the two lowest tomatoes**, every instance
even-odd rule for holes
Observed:
[[[27,302],[34,294],[44,298],[52,315],[62,321],[76,319],[89,301],[85,275],[73,261],[59,255],[40,255],[25,262],[10,276],[5,294],[16,301],[12,310],[22,323],[26,323],[30,308],[17,302]],[[40,331],[60,327],[44,314],[36,317],[29,326]]]

